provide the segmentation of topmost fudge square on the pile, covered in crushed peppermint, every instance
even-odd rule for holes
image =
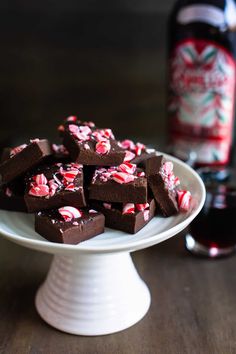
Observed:
[[[61,125],[63,145],[73,161],[83,165],[117,166],[125,157],[111,129],[99,129],[93,122],[70,116]]]

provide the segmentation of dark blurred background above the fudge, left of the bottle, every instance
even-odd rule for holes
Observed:
[[[0,141],[55,139],[77,114],[158,145],[173,3],[1,1]]]

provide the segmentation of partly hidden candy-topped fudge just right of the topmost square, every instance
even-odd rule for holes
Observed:
[[[119,142],[119,145],[125,150],[124,161],[135,163],[142,167],[145,166],[145,161],[156,155],[155,149],[148,149],[142,143],[134,143],[132,140],[125,139]]]

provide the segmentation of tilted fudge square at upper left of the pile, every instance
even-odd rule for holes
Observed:
[[[6,158],[5,153],[10,153]],[[13,181],[51,155],[50,143],[46,139],[33,139],[30,143],[5,150],[0,164],[0,185]]]

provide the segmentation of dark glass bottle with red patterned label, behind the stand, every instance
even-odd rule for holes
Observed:
[[[176,2],[169,18],[169,143],[196,164],[230,160],[235,103],[233,0]]]

